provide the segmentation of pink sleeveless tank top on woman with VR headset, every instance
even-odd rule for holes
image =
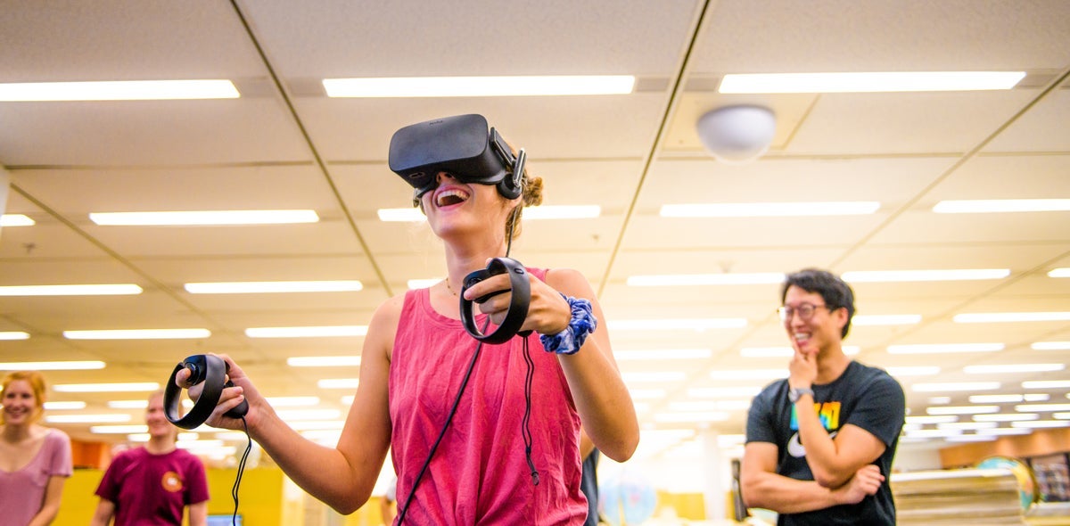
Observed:
[[[545,269],[530,268],[539,279]],[[406,294],[394,341],[389,407],[397,502],[409,498],[457,397],[476,344],[460,321],[431,308],[427,289]],[[476,318],[483,327],[485,316]],[[529,428],[532,481],[524,457],[521,338],[484,344],[457,414],[416,488],[406,524],[582,524],[580,418],[555,355],[528,337],[535,362]]]

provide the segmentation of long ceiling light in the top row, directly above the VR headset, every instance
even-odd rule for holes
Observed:
[[[635,84],[631,75],[323,79],[328,97],[376,98],[623,95],[631,93]]]

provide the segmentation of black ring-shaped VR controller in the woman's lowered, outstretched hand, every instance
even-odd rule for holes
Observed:
[[[174,380],[179,371],[183,369],[189,370],[190,387],[203,382],[204,388],[189,413],[180,418],[179,404],[182,388],[174,383]],[[167,387],[164,388],[164,415],[171,423],[182,429],[194,429],[204,423],[208,417],[212,416],[215,405],[219,403],[223,389],[234,386],[234,383],[229,380],[224,382],[229,370],[230,366],[223,358],[210,354],[197,354],[183,360],[182,363],[174,367],[174,371],[171,371],[171,377],[167,381]],[[248,402],[242,400],[242,403],[228,411],[226,416],[242,418],[248,411]]]

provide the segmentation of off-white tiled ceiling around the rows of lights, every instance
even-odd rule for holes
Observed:
[[[49,372],[54,384],[164,382],[195,353],[229,353],[269,396],[319,396],[355,368],[291,368],[291,356],[360,353],[361,338],[251,339],[248,327],[364,325],[413,278],[444,276],[424,225],[381,222],[409,205],[386,167],[391,135],[435,117],[487,115],[524,146],[546,181],[545,204],[597,204],[596,219],[528,221],[514,256],[570,266],[611,321],[745,318],[746,327],[612,334],[617,351],[707,349],[708,359],[621,361],[662,389],[641,403],[648,429],[699,387],[756,385],[715,371],[785,368],[742,347],[783,346],[777,285],[636,288],[632,275],[1010,268],[991,281],[857,283],[859,314],[921,314],[904,326],[859,326],[847,344],[883,366],[938,366],[902,377],[912,413],[918,382],[1068,380],[1070,372],[966,375],[980,363],[1066,363],[1070,322],[953,323],[966,312],[1070,311],[1070,213],[934,214],[945,199],[1070,198],[1070,2],[693,0],[352,2],[319,0],[24,2],[0,0],[0,82],[231,79],[225,100],[0,103],[0,165],[9,214],[35,226],[0,236],[0,284],[124,283],[135,296],[0,297],[0,361],[98,359],[97,371]],[[731,73],[1025,71],[1013,90],[946,93],[721,95]],[[327,98],[336,77],[624,74],[612,96]],[[716,161],[694,122],[732,103],[778,115],[775,143],[747,165]],[[661,205],[701,202],[880,201],[866,216],[677,219]],[[314,225],[100,227],[90,212],[312,208]],[[355,293],[190,295],[192,281],[357,279]],[[74,341],[63,330],[205,327],[211,338]],[[997,353],[889,355],[889,344],[1000,342]],[[771,380],[771,378],[768,378]],[[762,383],[762,382],[759,382]],[[1053,402],[1070,402],[1066,389]],[[968,393],[948,394],[965,403]],[[131,394],[85,399],[83,412]],[[1012,411],[1008,407],[1008,411]],[[60,414],[62,412],[52,412]],[[139,421],[133,412],[134,421]],[[709,427],[739,433],[744,409]],[[87,439],[85,426],[62,426]]]

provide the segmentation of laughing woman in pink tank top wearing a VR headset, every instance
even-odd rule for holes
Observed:
[[[464,129],[438,126],[443,123]],[[595,447],[617,462],[629,459],[639,443],[601,308],[579,272],[526,267],[531,300],[519,331],[528,336],[485,344],[465,331],[459,295],[479,301],[509,292],[511,276],[492,275],[462,288],[465,277],[507,256],[521,210],[541,202],[542,181],[522,169],[522,152],[503,149],[492,128],[487,134],[479,115],[413,126],[427,125],[432,127],[416,129],[408,143],[399,135],[409,128],[395,135],[391,168],[416,189],[415,202],[445,245],[448,274],[428,289],[386,300],[372,315],[360,386],[338,445],[316,445],[287,427],[227,357],[235,387],[223,391],[209,423],[242,429],[241,420],[221,415],[246,400],[251,437],[299,485],[341,513],[368,500],[391,450],[398,524],[582,524],[587,508],[580,490],[581,422]],[[495,150],[494,157],[450,157],[460,132],[479,137],[478,126],[484,151]],[[431,152],[416,156],[432,157],[429,169],[395,167],[395,154],[413,149]],[[488,171],[483,161],[505,169]],[[514,179],[515,171],[521,176]],[[487,318],[501,324],[511,296],[478,303],[479,325],[486,328]],[[181,372],[177,382],[187,376]]]

